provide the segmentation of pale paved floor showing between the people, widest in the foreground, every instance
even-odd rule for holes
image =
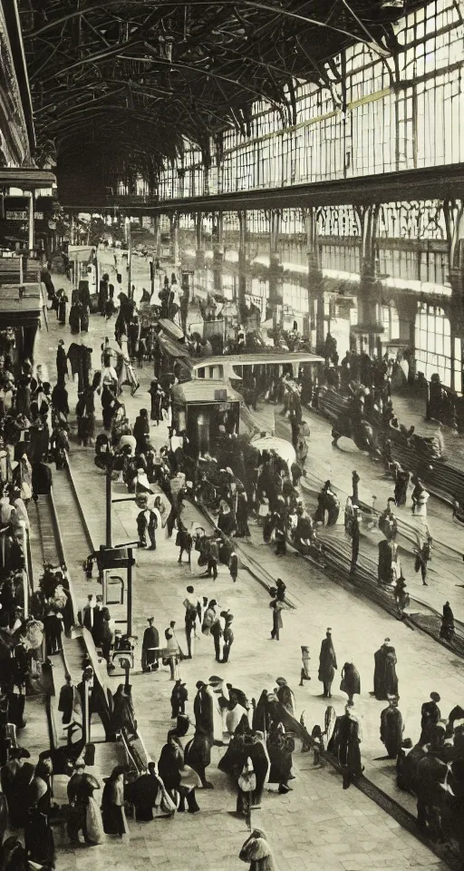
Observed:
[[[57,286],[64,284],[65,279],[57,279]],[[96,361],[100,358],[103,336],[112,335],[111,327],[111,322],[105,325],[103,318],[92,316],[91,329],[85,342],[94,348]],[[51,323],[50,332],[47,334],[43,331],[38,340],[37,358],[48,362],[52,377],[55,348],[58,338],[62,336],[67,347],[71,341],[69,328]],[[151,369],[146,367],[139,374],[140,391],[135,397],[125,396],[131,419],[141,406],[148,405],[149,400],[146,391]],[[74,399],[75,387],[70,387],[70,393]],[[318,431],[318,427],[314,428]],[[153,434],[155,440],[160,442],[164,442],[167,435],[164,426],[158,429],[154,427]],[[312,462],[314,472],[321,478],[330,476],[325,474],[328,460],[327,447],[323,442],[322,436],[314,437]],[[356,455],[356,465],[359,465],[360,456]],[[103,475],[93,465],[92,450],[78,449],[75,444],[72,445],[71,462],[78,485],[86,494],[86,510],[91,524],[98,530],[96,536],[101,537]],[[340,464],[340,468],[344,468],[343,481],[346,475],[350,478],[351,465]],[[334,483],[337,483],[338,471],[336,474],[332,472],[332,466],[331,475]],[[135,506],[130,503],[115,506],[115,540],[120,534],[124,538],[135,537],[135,512]],[[194,514],[191,519],[196,519]],[[71,536],[67,546],[73,547]],[[260,542],[257,530],[253,530],[252,541],[245,546],[275,577],[285,579],[296,600],[295,611],[285,611],[281,641],[270,640],[271,615],[266,592],[248,573],[240,573],[235,585],[226,569],[221,570],[217,582],[200,580],[198,572],[192,573],[187,565],[178,565],[177,549],[164,539],[162,533],[158,536],[155,553],[138,553],[134,623],[139,638],[147,617],[153,616],[160,634],[169,625],[169,620],[177,620],[179,641],[182,643],[182,600],[186,585],[193,582],[198,595],[214,595],[222,608],[230,608],[235,614],[235,641],[231,660],[226,665],[219,665],[214,660],[212,640],[207,638],[198,641],[192,661],[182,662],[182,677],[189,688],[189,711],[192,710],[196,681],[208,679],[213,673],[243,687],[252,696],[258,695],[264,688],[272,689],[276,677],[283,675],[295,690],[298,715],[304,710],[306,722],[312,727],[324,717],[325,702],[320,695],[322,686],[317,681],[317,661],[325,629],[328,625],[332,626],[339,665],[333,686],[334,706],[338,712],[343,710],[344,697],[338,691],[339,675],[343,662],[353,659],[362,681],[358,710],[362,715],[362,757],[366,774],[372,780],[378,778],[385,791],[396,789],[391,763],[375,761],[375,758],[384,755],[384,749],[379,739],[383,703],[373,700],[369,694],[372,690],[373,652],[385,636],[391,637],[399,661],[400,707],[406,721],[406,734],[412,739],[417,739],[420,731],[420,703],[429,697],[431,690],[440,691],[444,714],[460,699],[462,662],[453,660],[447,651],[429,638],[419,632],[412,633],[380,609],[364,602],[356,592],[350,594],[328,581],[324,573],[309,568],[298,557],[289,554],[277,560],[272,551]],[[81,547],[82,544],[79,550]],[[83,604],[87,592],[96,589],[95,582],[86,582],[83,573],[79,573],[79,563],[87,554],[73,552],[70,555],[75,570],[73,582],[76,596]],[[301,644],[309,644],[310,647],[312,681],[300,689],[297,683]],[[111,680],[116,689],[120,679]],[[161,670],[159,674],[134,675],[132,685],[141,733],[150,754],[157,758],[171,723],[169,695],[172,684],[169,672]],[[208,771],[215,789],[198,794],[200,814],[195,817],[177,816],[172,821],[131,823],[130,843],[124,840],[102,847],[68,849],[60,853],[57,867],[63,871],[90,871],[91,868],[110,865],[118,871],[141,869],[142,866],[165,868],[167,871],[187,871],[188,868],[232,871],[243,867],[237,855],[247,837],[247,830],[243,821],[231,816],[236,799],[228,787],[227,778],[217,770],[221,752],[223,749],[214,749]],[[444,869],[445,866],[429,849],[422,847],[416,838],[402,830],[357,789],[350,788],[344,792],[341,779],[332,768],[314,770],[310,754],[296,753],[294,761],[294,791],[286,797],[266,794],[263,809],[256,812],[253,818],[253,824],[263,827],[268,833],[275,850],[278,871],[358,871],[366,867],[374,871],[409,867]],[[407,799],[402,797],[401,800]]]

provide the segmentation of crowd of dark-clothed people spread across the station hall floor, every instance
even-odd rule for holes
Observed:
[[[117,282],[121,284],[119,279]],[[160,290],[159,317],[174,319],[179,314],[185,331],[187,312],[182,309],[185,294],[182,296],[179,290],[176,291],[176,285],[175,276],[170,282],[165,280]],[[49,297],[53,300],[59,322],[64,324],[69,318],[72,335],[85,333],[93,306],[92,300],[85,296],[85,290],[73,293],[69,312],[64,291],[54,294],[49,285]],[[148,292],[142,297],[140,308],[143,305],[151,305]],[[261,806],[269,784],[274,785],[280,795],[291,791],[291,782],[295,779],[293,754],[297,743],[302,749],[313,749],[317,764],[320,764],[321,756],[336,760],[343,775],[343,788],[349,788],[362,776],[362,716],[358,712],[361,677],[352,661],[345,661],[341,672],[340,690],[347,697],[343,713],[337,715],[330,703],[324,723],[315,723],[311,733],[298,719],[295,695],[282,677],[275,679],[274,690],[262,690],[257,701],[249,700],[245,690],[218,676],[198,680],[191,713],[188,712],[189,690],[179,677],[179,663],[196,657],[198,643],[210,644],[211,653],[218,663],[230,661],[234,650],[234,614],[222,609],[217,599],[198,596],[192,584],[187,586],[182,602],[185,642],[183,637],[178,637],[176,621],[170,621],[163,631],[155,625],[155,618],[150,617],[141,644],[142,671],[169,667],[173,680],[170,706],[175,726],[169,729],[158,762],[150,761],[146,770],[135,778],[121,767],[114,768],[111,776],[105,779],[102,802],[97,801],[96,794],[102,785],[87,770],[89,748],[82,744],[86,695],[83,687],[86,681],[92,682],[90,661],[83,663],[81,682],[74,687],[68,675],[60,692],[63,727],[70,731],[73,752],[64,762],[53,758],[53,752],[48,750],[40,755],[35,767],[25,761],[29,753],[21,746],[18,733],[24,729],[27,692],[34,680],[43,679],[47,660],[53,661],[53,656],[59,655],[63,633],[71,631],[73,622],[65,566],[44,567],[43,577],[27,603],[27,617],[24,617],[27,506],[41,494],[50,492],[50,463],[54,462],[57,468],[63,467],[65,453],[69,450],[70,407],[66,377],[70,371],[78,378],[78,440],[83,445],[94,445],[95,465],[110,470],[113,477],[123,481],[128,491],[134,494],[139,508],[136,523],[140,548],[156,551],[157,536],[165,529],[169,537],[175,536],[179,563],[184,556],[190,564],[196,560],[198,569],[204,570],[203,576],[213,582],[218,577],[219,564],[227,565],[231,581],[237,582],[239,559],[235,540],[249,538],[251,520],[261,524],[264,541],[275,545],[277,556],[284,555],[287,543],[291,542],[322,563],[324,547],[317,529],[320,525],[336,524],[340,514],[340,501],[331,481],[324,483],[314,512],[309,510],[302,492],[308,448],[303,406],[316,406],[320,390],[308,371],[301,373],[296,384],[286,372],[271,383],[262,384],[255,378],[244,385],[247,402],[252,407],[256,406],[258,396],[263,396],[263,390],[269,401],[282,401],[283,415],[290,422],[295,448],[293,464],[288,465],[274,449],[256,450],[249,442],[241,441],[229,426],[227,415],[218,427],[211,453],[194,458],[173,407],[170,387],[176,378],[167,381],[162,377],[162,349],[156,322],[148,326],[142,324],[140,309],[133,299],[122,292],[115,298],[108,273],[102,276],[96,310],[107,319],[116,315],[116,346],[112,347],[111,340],[105,339],[100,368],[93,374],[92,348],[72,342],[66,351],[63,339],[57,348],[57,383],[53,389],[40,367],[33,367],[25,360],[20,375],[14,377],[11,358],[7,354],[0,357],[3,403],[0,406],[3,435],[0,509],[1,531],[5,535],[0,632],[8,651],[8,656],[1,661],[3,768],[0,778],[9,823],[18,830],[24,828],[24,844],[16,835],[6,839],[2,848],[2,871],[23,871],[27,859],[43,868],[53,867],[53,826],[63,814],[63,807],[66,808],[64,818],[70,840],[77,843],[83,839],[88,844],[100,844],[106,835],[124,837],[128,833],[124,810],[128,803],[138,820],[169,818],[185,811],[198,813],[197,790],[213,788],[209,778],[214,768],[211,750],[215,746],[227,744],[217,768],[232,778],[237,789],[237,814],[248,819],[251,810]],[[235,341],[241,341],[240,336],[238,330]],[[199,348],[198,353],[203,354],[204,350]],[[334,389],[345,390],[351,396],[354,415],[363,419],[378,413],[390,426],[394,418],[389,364],[372,361],[367,355],[348,354],[339,366],[335,358],[336,347],[327,350],[331,353],[326,355],[326,383]],[[138,388],[135,361],[140,367],[146,361],[152,363],[154,377],[150,385],[150,408],[140,408],[132,425],[121,394],[126,384],[131,387],[132,394]],[[363,387],[355,387],[355,384]],[[101,399],[103,420],[103,429],[98,435],[97,396]],[[158,426],[162,420],[169,426],[169,443],[157,450],[151,443],[150,426]],[[411,441],[412,436],[410,433],[407,438]],[[384,458],[394,479],[394,504],[404,504],[410,483],[409,473],[401,465],[394,464],[388,445]],[[413,483],[413,511],[425,516],[427,491],[420,479]],[[352,542],[352,572],[358,560],[362,522],[358,485],[359,476],[353,473],[353,495],[350,504],[345,506],[345,529]],[[213,510],[215,528],[212,533],[207,533],[198,524],[195,528],[189,526],[188,500],[206,504]],[[403,612],[407,593],[404,582],[401,583],[404,581],[402,573],[395,568],[398,524],[391,504],[379,518],[385,541],[379,545],[378,580],[382,584],[394,583],[399,612]],[[418,541],[415,564],[424,584],[427,584],[431,548],[430,536]],[[87,561],[89,576],[95,559],[96,555],[91,554]],[[280,640],[284,629],[285,594],[285,583],[278,579],[270,591],[269,602],[272,612],[270,637],[274,641]],[[121,639],[101,596],[89,596],[79,619],[90,631],[95,647],[102,651],[102,658],[111,673],[114,669],[113,652],[124,650],[124,644],[129,640]],[[450,641],[453,634],[454,618],[449,602],[446,602],[442,638]],[[307,647],[302,647],[302,661],[301,686],[304,680],[311,680]],[[332,630],[328,629],[321,644],[317,673],[326,700],[333,698],[337,670]],[[93,710],[103,716],[108,700],[103,705],[99,692],[98,680],[93,680]],[[454,709],[443,723],[438,707],[440,696],[431,693],[430,701],[422,705],[420,739],[412,747],[411,740],[404,735],[396,652],[388,638],[375,652],[372,695],[376,700],[387,702],[380,718],[380,741],[388,758],[397,759],[399,784],[418,796],[420,826],[428,831],[430,837],[440,839],[451,833],[464,847],[459,827],[454,822],[455,818],[462,816],[460,804],[464,794],[461,787],[464,782],[461,777],[464,742],[460,722],[461,718],[464,719],[464,711]],[[110,709],[110,719],[104,723],[107,737],[118,738],[124,734],[134,739],[137,720],[131,687],[127,682],[114,693]],[[212,779],[217,776],[215,774]],[[53,796],[53,790],[56,792],[54,781],[58,778],[64,778],[60,804]],[[16,797],[20,794],[28,798],[18,807]],[[271,849],[261,830],[251,832],[240,858],[249,861],[251,868],[273,868]],[[266,864],[254,864],[258,858]]]

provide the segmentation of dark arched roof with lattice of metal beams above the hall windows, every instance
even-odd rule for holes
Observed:
[[[210,137],[231,125],[249,135],[259,99],[295,123],[296,82],[332,90],[333,57],[391,44],[394,19],[380,0],[18,2],[38,153],[53,141],[59,161],[74,148],[116,174],[128,161],[160,170],[185,139],[208,162]]]

